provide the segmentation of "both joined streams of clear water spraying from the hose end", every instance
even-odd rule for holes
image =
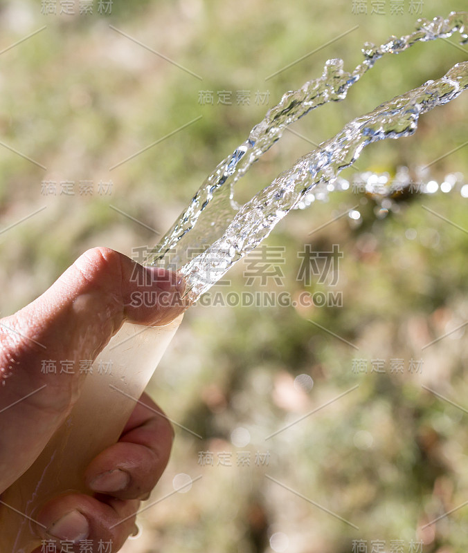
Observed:
[[[298,91],[285,93],[252,129],[248,140],[216,167],[147,263],[162,261],[180,270],[186,275],[189,297],[195,301],[233,263],[268,236],[291,209],[307,203],[313,187],[336,180],[339,171],[352,165],[366,145],[411,135],[421,113],[453,100],[467,88],[467,63],[457,64],[441,79],[395,97],[348,123],[338,135],[300,158],[249,202],[237,205],[233,185],[280,139],[287,125],[318,106],[343,100],[350,86],[384,55],[400,53],[419,41],[449,37],[457,31],[464,44],[468,41],[467,22],[466,12],[451,12],[447,19],[420,19],[410,35],[390,37],[381,46],[366,44],[362,50],[364,62],[351,73],[343,71],[341,59],[328,60],[321,77],[306,82]],[[206,247],[207,243],[211,245]],[[189,252],[197,248],[202,253],[190,259]]]

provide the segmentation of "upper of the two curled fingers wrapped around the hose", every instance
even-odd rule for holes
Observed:
[[[87,486],[120,499],[147,498],[168,464],[173,435],[166,415],[143,394],[120,440],[87,468]]]

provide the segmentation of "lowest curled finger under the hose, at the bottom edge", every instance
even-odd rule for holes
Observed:
[[[90,497],[83,494],[65,494],[44,505],[37,521],[39,537],[55,541],[57,551],[60,542],[75,543],[78,553],[80,543],[90,540],[92,551],[98,551],[99,541],[111,542],[111,551],[118,551],[127,537],[134,533],[138,500]]]

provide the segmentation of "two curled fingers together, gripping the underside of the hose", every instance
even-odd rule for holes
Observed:
[[[93,552],[100,551],[100,540],[110,542],[109,551],[115,553],[134,534],[140,500],[150,495],[163,474],[173,437],[170,423],[150,397],[143,394],[141,402],[152,410],[137,404],[120,440],[102,451],[87,468],[87,486],[102,493],[92,497],[62,495],[48,501],[37,515],[37,521],[47,528],[40,538],[45,543],[58,538],[57,553],[62,550],[61,541],[74,541],[78,552],[84,540],[93,542],[89,549]],[[37,547],[33,553],[42,552],[42,547]]]

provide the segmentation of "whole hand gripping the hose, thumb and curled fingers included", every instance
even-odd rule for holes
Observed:
[[[126,320],[170,322],[185,309],[182,289],[174,273],[143,268],[113,250],[95,248],[42,296],[1,319],[0,493],[33,464],[80,395],[83,374],[44,374],[42,361],[96,359]],[[136,305],[134,292],[151,292],[146,297],[155,296],[156,302]],[[28,396],[44,383],[47,386]],[[147,396],[141,400],[158,409]],[[168,462],[171,442],[168,420],[138,404],[119,442],[102,451],[84,475],[87,485],[102,494],[66,494],[48,502],[37,515],[48,529],[44,538],[55,533],[60,539],[88,538],[96,545],[111,539],[117,551],[134,530],[134,517],[109,527],[136,512],[138,498],[150,493]],[[102,473],[106,477],[98,485]],[[68,522],[57,523],[66,515]]]

